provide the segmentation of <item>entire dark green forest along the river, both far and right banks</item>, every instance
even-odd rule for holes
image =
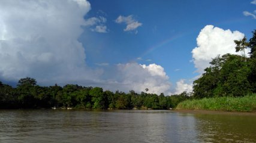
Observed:
[[[236,43],[242,55],[225,54],[213,58],[200,78],[194,81],[193,92],[165,96],[134,91],[103,91],[99,87],[79,85],[39,86],[31,77],[20,79],[13,88],[0,82],[0,108],[100,108],[100,109],[168,109],[181,101],[211,97],[242,97],[256,93],[256,30],[249,41]],[[249,57],[245,49],[250,48]]]

